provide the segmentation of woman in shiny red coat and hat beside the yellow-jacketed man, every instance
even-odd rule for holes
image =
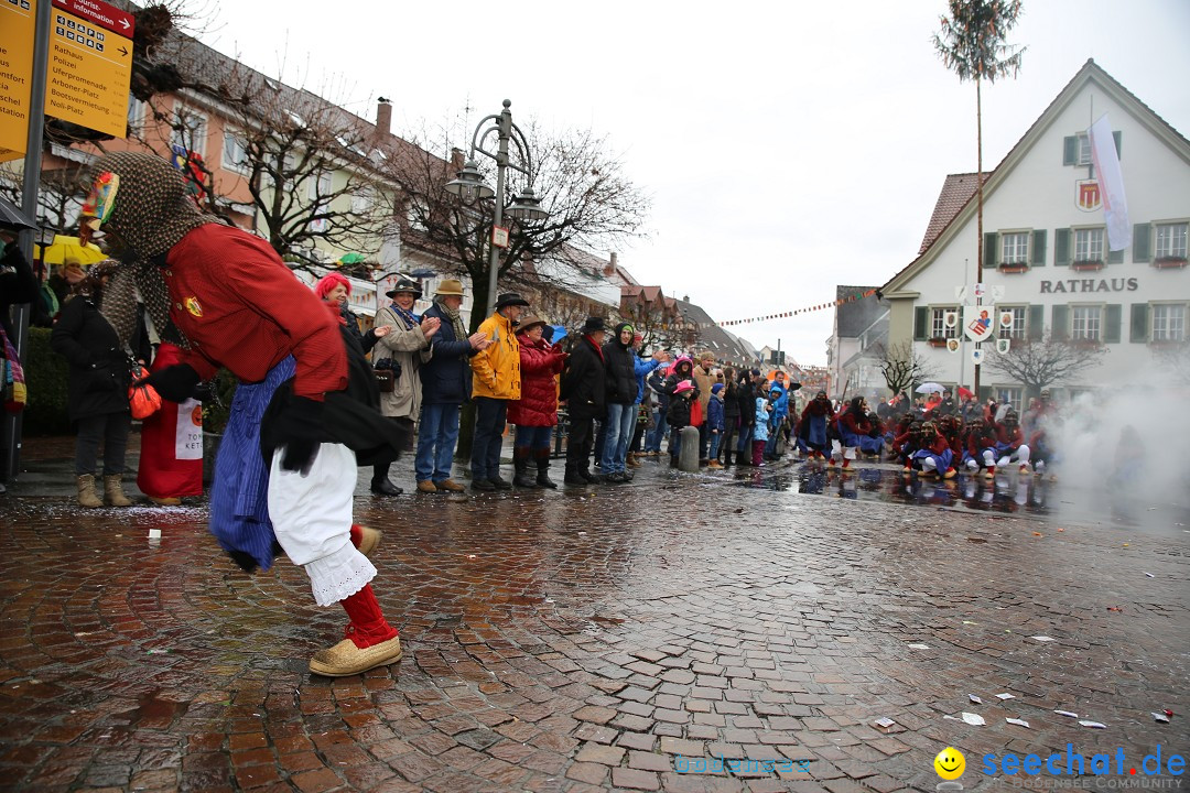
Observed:
[[[508,403],[508,423],[516,426],[513,466],[518,487],[557,487],[550,480],[550,438],[558,423],[558,382],[565,353],[541,333],[545,320],[526,316],[516,328],[521,359],[521,398]],[[537,460],[537,479],[528,476],[530,459]]]

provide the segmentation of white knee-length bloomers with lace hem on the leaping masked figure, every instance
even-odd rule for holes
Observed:
[[[351,545],[356,455],[342,443],[322,443],[308,473],[282,471],[283,448],[269,470],[269,518],[277,542],[306,568],[314,602],[331,605],[362,590],[376,567]]]

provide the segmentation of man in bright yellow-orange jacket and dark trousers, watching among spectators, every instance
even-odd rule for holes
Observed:
[[[471,439],[471,490],[511,490],[500,477],[508,401],[520,398],[520,344],[513,325],[528,301],[507,292],[496,301],[496,313],[483,321],[478,333],[491,342],[471,357],[471,398],[475,401],[475,435]]]

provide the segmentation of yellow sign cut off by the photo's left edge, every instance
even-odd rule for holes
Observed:
[[[0,2],[0,163],[25,153],[37,0]]]

